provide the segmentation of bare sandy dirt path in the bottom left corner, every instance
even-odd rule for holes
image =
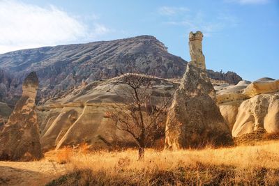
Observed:
[[[0,185],[45,185],[66,172],[66,165],[41,160],[38,162],[1,162]]]

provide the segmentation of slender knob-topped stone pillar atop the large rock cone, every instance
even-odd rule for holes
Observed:
[[[204,35],[201,31],[197,31],[193,33],[192,31],[189,33],[189,50],[191,61],[190,63],[195,65],[198,68],[206,69],[204,54],[202,54],[202,38]]]

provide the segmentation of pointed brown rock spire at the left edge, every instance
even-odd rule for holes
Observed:
[[[38,78],[31,72],[22,85],[22,98],[0,134],[0,160],[28,161],[43,156],[35,106],[37,91]]]

